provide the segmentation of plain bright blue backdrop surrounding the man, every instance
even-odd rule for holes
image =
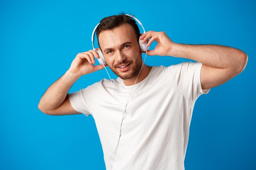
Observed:
[[[2,0],[0,170],[106,168],[91,115],[50,116],[38,109],[38,103],[77,53],[92,49],[94,26],[123,11],[135,14],[146,31],[165,31],[173,42],[220,44],[247,53],[242,73],[195,103],[185,169],[256,169],[255,7],[255,1],[244,0]],[[191,60],[147,56],[145,64],[187,61]],[[112,79],[117,77],[107,69]],[[69,93],[103,78],[109,79],[105,69],[83,75]]]

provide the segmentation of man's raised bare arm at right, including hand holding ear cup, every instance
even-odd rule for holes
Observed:
[[[248,61],[245,52],[221,45],[193,45],[173,42],[164,31],[148,31],[139,39],[147,46],[155,40],[155,49],[148,50],[148,55],[182,57],[202,63],[200,79],[202,89],[219,86],[241,73]]]

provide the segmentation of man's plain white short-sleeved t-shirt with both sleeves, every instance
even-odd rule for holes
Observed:
[[[153,66],[141,82],[126,86],[120,77],[101,79],[69,94],[72,107],[92,115],[106,170],[184,170],[189,126],[196,99],[207,94],[200,82],[200,62]]]

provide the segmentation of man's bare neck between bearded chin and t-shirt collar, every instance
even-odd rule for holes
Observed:
[[[147,66],[146,64],[144,64],[144,66],[143,66],[143,68],[142,68],[142,70],[141,70],[141,72],[140,72],[140,74],[139,74],[138,79],[137,79],[137,76],[138,76],[138,75],[135,76],[135,77],[132,77],[131,79],[124,79],[124,80],[123,80],[123,81],[124,81],[124,84],[125,84],[126,86],[131,86],[131,85],[133,85],[133,84],[135,83],[135,80],[136,80],[136,79],[137,79],[136,84],[139,83],[139,82],[141,82],[142,80],[144,80],[144,79],[148,76],[148,74],[149,74],[151,68],[152,68],[152,66]]]

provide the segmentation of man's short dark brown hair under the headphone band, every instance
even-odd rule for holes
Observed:
[[[98,45],[99,45],[99,33],[101,33],[101,31],[112,30],[120,26],[121,24],[125,24],[125,23],[130,24],[132,26],[132,28],[136,33],[137,42],[139,42],[140,33],[139,33],[139,27],[136,24],[136,21],[132,17],[125,15],[125,13],[122,12],[122,13],[119,13],[119,15],[112,15],[109,17],[105,17],[100,21],[100,24],[97,26],[97,29],[96,29]]]

